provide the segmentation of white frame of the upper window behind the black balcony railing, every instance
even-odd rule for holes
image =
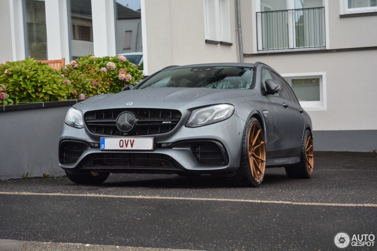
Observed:
[[[258,41],[257,39],[261,37],[261,34],[257,34],[257,30],[260,32],[261,28],[257,29],[256,24],[256,13],[261,12],[261,0],[251,0],[252,1],[252,11],[251,11],[251,17],[253,20],[253,53],[268,53],[268,52],[288,52],[288,51],[312,51],[312,50],[318,50],[319,48],[291,48],[291,49],[281,49],[281,50],[264,50],[264,51],[258,51]],[[325,7],[325,46],[322,49],[330,49],[330,43],[329,43],[329,0],[322,0],[323,6]],[[346,1],[346,0],[340,0],[340,1]],[[294,0],[287,0],[287,9],[294,9]],[[291,18],[290,18],[291,19]],[[293,27],[293,26],[290,26]],[[290,28],[293,29],[293,28]],[[290,32],[294,32],[291,30]],[[259,35],[259,36],[258,36]],[[296,43],[295,40],[290,41],[290,46],[293,46],[293,43]],[[260,43],[259,43],[260,44]]]

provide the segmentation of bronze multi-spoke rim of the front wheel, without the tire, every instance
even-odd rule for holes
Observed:
[[[257,183],[261,182],[266,167],[266,147],[262,128],[256,121],[251,124],[249,131],[248,159],[251,176]]]

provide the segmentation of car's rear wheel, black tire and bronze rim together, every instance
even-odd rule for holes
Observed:
[[[300,163],[286,167],[285,173],[290,179],[309,179],[313,174],[313,163],[313,139],[309,130],[306,130],[302,139]]]

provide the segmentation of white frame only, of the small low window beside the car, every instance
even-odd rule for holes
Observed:
[[[299,101],[307,111],[327,110],[326,72],[282,73],[285,79],[319,78],[319,101]]]

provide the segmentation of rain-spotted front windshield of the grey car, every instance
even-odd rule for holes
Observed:
[[[163,70],[144,81],[138,89],[156,87],[191,87],[213,89],[249,89],[253,68],[200,66]]]

